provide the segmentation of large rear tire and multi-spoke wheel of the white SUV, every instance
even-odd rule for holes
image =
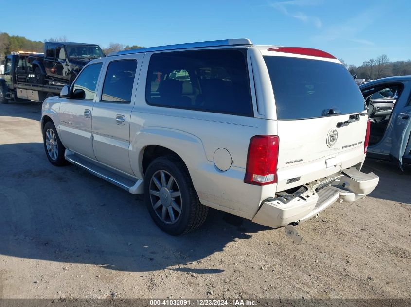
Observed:
[[[162,175],[165,180],[161,180]],[[198,199],[186,166],[175,156],[160,157],[148,165],[144,201],[157,226],[174,236],[201,226],[208,213],[208,207]]]

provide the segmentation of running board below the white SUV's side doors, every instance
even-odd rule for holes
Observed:
[[[143,194],[143,180],[134,178],[127,174],[118,172],[114,169],[96,162],[80,154],[77,154],[69,149],[66,149],[64,158],[80,168],[88,171],[89,173],[102,178],[131,194]]]

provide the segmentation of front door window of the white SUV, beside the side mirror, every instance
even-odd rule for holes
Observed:
[[[98,75],[102,63],[91,64],[85,67],[73,84],[73,95],[76,99],[93,100],[96,91]]]

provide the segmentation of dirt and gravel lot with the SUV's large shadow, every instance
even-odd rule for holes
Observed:
[[[410,168],[369,160],[366,199],[298,226],[301,245],[213,211],[161,232],[141,196],[46,159],[40,104],[0,105],[0,298],[410,298]]]

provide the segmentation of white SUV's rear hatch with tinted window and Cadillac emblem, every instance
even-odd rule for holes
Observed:
[[[367,116],[353,77],[336,60],[264,56],[280,138],[277,191],[362,162]]]

